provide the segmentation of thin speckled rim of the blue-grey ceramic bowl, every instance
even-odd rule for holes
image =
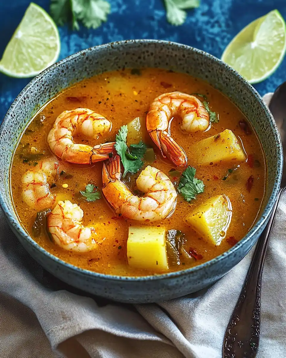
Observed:
[[[55,71],[58,67],[60,67],[63,63],[65,63],[66,61],[70,61],[73,60],[74,58],[77,58],[81,55],[83,55],[86,52],[93,52],[94,50],[105,50],[105,49],[114,49],[115,47],[120,47],[120,46],[124,46],[124,45],[131,45],[131,44],[165,44],[165,45],[171,45],[172,47],[175,48],[184,48],[190,52],[195,52],[199,55],[202,55],[204,57],[208,57],[209,59],[211,59],[212,61],[215,61],[217,63],[219,63],[222,67],[224,67],[227,71],[231,71],[233,73],[235,73],[235,75],[238,78],[238,81],[241,81],[246,87],[248,87],[248,89],[253,93],[253,95],[255,96],[256,100],[260,103],[260,106],[262,106],[263,110],[266,111],[267,115],[268,115],[268,119],[270,121],[270,125],[272,127],[272,130],[274,132],[274,136],[276,139],[276,150],[277,150],[277,178],[275,180],[275,183],[273,185],[273,190],[272,193],[270,195],[270,198],[263,210],[263,212],[260,214],[261,217],[258,219],[258,221],[255,223],[255,225],[253,225],[253,227],[250,229],[250,231],[248,231],[248,233],[240,240],[236,243],[236,245],[234,245],[233,247],[231,247],[230,249],[228,249],[227,251],[223,252],[221,255],[216,256],[215,258],[206,261],[204,263],[201,263],[197,266],[194,267],[190,267],[188,269],[183,269],[183,270],[179,270],[179,271],[173,271],[173,272],[168,272],[168,273],[164,273],[164,274],[155,274],[155,275],[146,275],[146,276],[119,276],[119,275],[109,275],[109,274],[102,274],[99,272],[95,272],[95,271],[90,271],[87,269],[82,269],[78,266],[72,265],[68,262],[65,262],[63,260],[61,260],[59,257],[51,254],[50,252],[46,251],[43,247],[41,247],[36,241],[34,241],[30,235],[21,227],[19,220],[13,218],[10,214],[10,210],[8,209],[7,205],[5,204],[4,201],[4,197],[2,192],[0,191],[0,205],[5,213],[5,216],[7,217],[7,219],[9,220],[10,224],[16,229],[16,231],[18,232],[18,234],[21,235],[21,237],[23,237],[24,240],[26,240],[30,245],[32,245],[37,251],[40,251],[41,254],[43,254],[44,256],[47,256],[49,259],[55,261],[55,263],[61,265],[66,266],[68,269],[71,270],[76,270],[78,271],[79,274],[83,274],[83,275],[88,275],[91,277],[95,277],[98,279],[104,279],[104,280],[109,280],[109,281],[150,281],[150,280],[164,280],[164,279],[173,279],[175,277],[178,276],[182,276],[182,275],[189,275],[192,274],[193,272],[197,272],[199,270],[202,269],[206,269],[209,266],[212,266],[214,264],[216,264],[219,261],[224,260],[226,257],[233,255],[233,253],[235,253],[237,250],[240,249],[241,246],[244,246],[247,242],[249,242],[252,237],[256,234],[256,232],[260,229],[261,226],[263,226],[263,224],[266,222],[272,208],[273,205],[276,201],[279,189],[280,189],[280,181],[281,181],[281,176],[282,176],[282,166],[283,166],[283,151],[282,151],[282,144],[281,144],[281,138],[280,138],[280,134],[278,132],[277,126],[275,124],[275,121],[273,119],[273,116],[271,114],[271,112],[269,111],[268,107],[266,106],[265,102],[263,101],[262,97],[258,94],[258,92],[256,91],[256,89],[254,87],[251,86],[250,83],[248,83],[246,81],[246,79],[244,79],[237,71],[235,71],[233,68],[231,68],[230,66],[228,66],[225,62],[221,61],[221,59],[218,59],[217,57],[203,51],[203,50],[199,50],[197,48],[188,46],[188,45],[184,45],[181,43],[177,43],[177,42],[172,42],[172,41],[167,41],[167,40],[153,40],[153,39],[134,39],[134,40],[123,40],[123,41],[116,41],[116,42],[110,42],[110,43],[106,43],[106,44],[102,44],[102,45],[97,45],[91,48],[87,48],[84,50],[81,50],[79,52],[76,52],[68,57],[65,57],[63,59],[61,59],[60,61],[54,63],[52,66],[46,68],[43,72],[41,72],[40,74],[38,74],[38,76],[34,77],[23,89],[22,91],[19,93],[19,95],[15,98],[15,100],[13,101],[13,103],[11,104],[9,110],[7,111],[3,122],[0,126],[0,138],[2,136],[2,132],[4,131],[4,126],[6,125],[6,122],[9,121],[9,117],[11,115],[11,113],[14,110],[14,107],[17,105],[17,103],[21,100],[21,98],[25,95],[26,91],[29,90],[30,87],[34,86],[34,84],[36,84],[38,81],[41,81],[45,78],[46,73],[50,72],[50,71]],[[11,165],[11,163],[10,163]],[[11,196],[11,193],[10,193]],[[18,237],[17,237],[18,239]],[[18,239],[19,240],[19,239]]]

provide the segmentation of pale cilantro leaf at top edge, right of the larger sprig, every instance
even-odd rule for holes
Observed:
[[[186,9],[197,8],[199,0],[164,0],[167,20],[174,26],[182,25],[187,17]]]

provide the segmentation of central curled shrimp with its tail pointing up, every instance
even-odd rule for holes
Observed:
[[[136,184],[137,188],[146,194],[143,198],[133,195],[120,177],[119,156],[105,161],[102,171],[102,193],[116,213],[138,221],[156,221],[173,214],[177,192],[171,180],[162,171],[147,166],[139,174]]]

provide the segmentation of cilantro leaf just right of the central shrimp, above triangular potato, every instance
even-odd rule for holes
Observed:
[[[196,199],[196,195],[204,192],[204,183],[202,180],[195,178],[196,169],[188,166],[183,171],[179,185],[178,192],[182,194],[187,201]]]

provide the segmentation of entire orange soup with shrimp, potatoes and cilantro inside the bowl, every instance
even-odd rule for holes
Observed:
[[[53,255],[153,275],[199,265],[247,234],[265,160],[247,118],[206,82],[125,69],[39,111],[15,151],[11,188],[21,224]]]

